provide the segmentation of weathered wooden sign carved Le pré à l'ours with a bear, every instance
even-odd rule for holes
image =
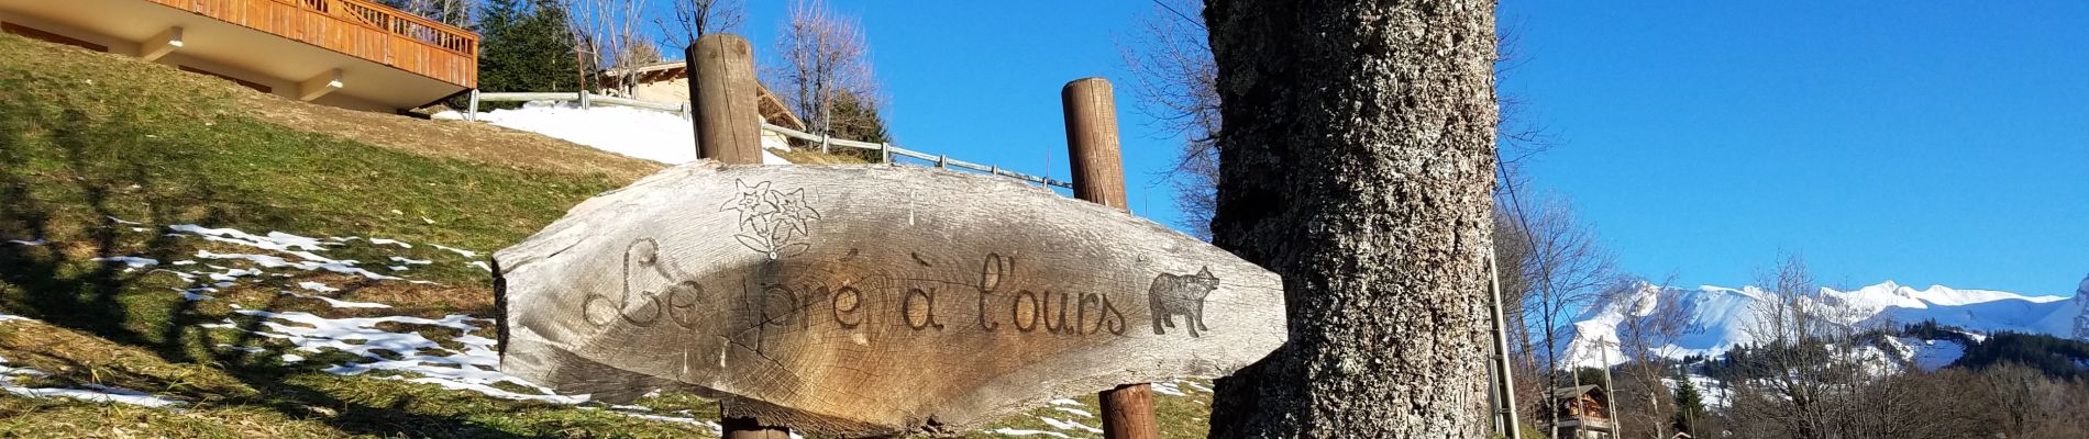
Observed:
[[[953,433],[1285,341],[1224,250],[1009,179],[911,166],[662,171],[497,252],[501,370],[620,402],[867,437]]]

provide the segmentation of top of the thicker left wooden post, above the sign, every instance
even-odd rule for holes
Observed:
[[[754,48],[746,37],[710,33],[687,50],[689,119],[696,125],[696,156],[727,164],[762,162],[762,114],[754,96]]]

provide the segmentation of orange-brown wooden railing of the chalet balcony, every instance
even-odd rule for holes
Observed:
[[[478,33],[370,0],[148,0],[478,87]]]

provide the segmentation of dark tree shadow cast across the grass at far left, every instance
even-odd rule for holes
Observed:
[[[0,81],[0,85],[19,85]],[[148,112],[148,110],[146,110]],[[230,218],[267,218],[242,212],[244,193],[228,193],[207,175],[203,160],[221,154],[201,131],[178,123],[150,121],[157,114],[90,117],[77,108],[0,100],[0,306],[56,327],[75,329],[119,345],[140,347],[175,364],[215,364],[257,393],[213,395],[175,391],[213,404],[276,410],[288,418],[309,418],[349,435],[378,437],[518,437],[457,416],[407,410],[412,395],[382,406],[343,399],[326,389],[286,383],[297,370],[276,366],[244,352],[213,350],[217,339],[198,329],[194,306],[180,298],[167,275],[98,262],[109,256],[152,260],[186,258],[194,252],[161,229],[136,227],[178,223],[221,225]],[[6,239],[48,239],[42,246]],[[280,298],[278,298],[280,300]],[[251,318],[234,345],[253,341]],[[67,358],[65,345],[50,345],[50,358]],[[71,360],[69,360],[71,362]],[[92,368],[77,364],[77,368]],[[140,377],[142,379],[142,377]],[[171,379],[159,389],[180,389]],[[315,408],[324,408],[322,414]]]

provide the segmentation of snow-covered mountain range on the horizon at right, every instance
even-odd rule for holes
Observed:
[[[1761,327],[1769,291],[1759,287],[1654,287],[1642,285],[1638,291],[1606,304],[1592,306],[1573,318],[1567,331],[1573,337],[1563,345],[1569,364],[1617,364],[1623,354],[1617,347],[1619,322],[1632,316],[1652,314],[1659,306],[1682,306],[1686,316],[1684,335],[1661,352],[1669,358],[1717,356],[1734,345],[1753,343],[1751,329]],[[1851,291],[1822,289],[1820,295],[1801,298],[1801,306],[1826,310],[1838,325],[1878,327],[1937,320],[1939,325],[1962,327],[1985,333],[2043,333],[2089,341],[2089,279],[2083,279],[2072,298],[2064,295],[2022,295],[1987,289],[1953,289],[1930,285],[1926,289],[1905,287],[1893,281],[1859,287]],[[1905,345],[1901,358],[1916,360],[1926,368],[1943,366],[1955,352],[1955,343],[1930,343],[1920,339],[1897,339]],[[1943,358],[1943,360],[1941,360]],[[1941,360],[1941,362],[1939,362]]]

